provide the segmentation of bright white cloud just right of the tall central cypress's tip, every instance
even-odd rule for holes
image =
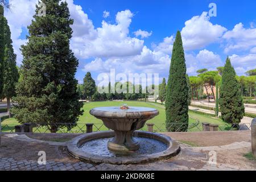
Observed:
[[[203,12],[200,16],[193,16],[185,22],[185,27],[181,31],[185,50],[204,48],[221,38],[226,28],[212,24],[209,19],[207,12]]]

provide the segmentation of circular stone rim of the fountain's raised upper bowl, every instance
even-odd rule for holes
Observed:
[[[131,106],[130,109],[133,108],[144,108],[148,110],[142,111],[129,111],[129,109],[119,109],[117,111],[111,110],[100,110],[101,108],[118,108],[118,106],[112,107],[96,107],[89,111],[91,115],[98,118],[116,118],[116,119],[134,119],[134,118],[152,118],[159,114],[157,109],[153,109],[151,107],[133,107]]]

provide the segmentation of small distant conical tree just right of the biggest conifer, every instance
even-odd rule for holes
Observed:
[[[84,77],[84,92],[89,99],[91,99],[96,92],[96,83],[93,80],[92,75],[90,75],[90,72],[86,73]]]

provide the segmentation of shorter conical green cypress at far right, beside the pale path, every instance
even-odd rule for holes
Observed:
[[[224,71],[222,73],[222,84],[220,88],[220,111],[221,119],[227,123],[240,123],[245,113],[240,86],[236,79],[236,72],[230,63],[229,57],[226,59]]]

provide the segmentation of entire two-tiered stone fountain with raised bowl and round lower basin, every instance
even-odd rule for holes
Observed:
[[[159,114],[149,107],[97,107],[90,114],[113,131],[96,132],[73,139],[69,153],[92,163],[133,164],[170,158],[180,147],[162,134],[137,131]]]

